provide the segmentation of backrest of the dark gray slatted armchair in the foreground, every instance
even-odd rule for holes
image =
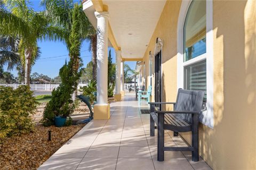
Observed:
[[[202,110],[204,91],[178,90],[174,111],[200,112]],[[183,120],[191,122],[191,114],[179,114]]]

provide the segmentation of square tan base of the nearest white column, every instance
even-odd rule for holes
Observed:
[[[107,120],[110,118],[109,104],[96,104],[93,107],[93,118],[95,120]]]

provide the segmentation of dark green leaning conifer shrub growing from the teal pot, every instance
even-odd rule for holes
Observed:
[[[61,84],[57,89],[52,91],[52,98],[47,103],[42,123],[44,126],[54,125],[54,117],[68,117],[71,119],[70,114],[74,112],[75,105],[71,99],[71,95],[77,87],[77,81],[81,75],[81,72],[74,72],[73,60],[69,63],[65,63],[60,69]]]

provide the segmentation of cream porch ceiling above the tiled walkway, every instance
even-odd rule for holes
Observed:
[[[153,35],[166,1],[109,1],[109,23],[123,58],[142,58]],[[89,2],[86,2],[89,3]],[[93,4],[93,3],[92,3]],[[93,4],[94,5],[94,4]],[[87,11],[86,11],[87,10]],[[96,18],[92,6],[84,11],[94,27]]]

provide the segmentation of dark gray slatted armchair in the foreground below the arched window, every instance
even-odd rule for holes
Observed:
[[[156,102],[150,104],[150,136],[155,135],[157,124],[157,160],[164,160],[164,151],[192,151],[192,160],[198,156],[198,122],[202,110],[204,92],[178,90],[176,103]],[[157,111],[156,105],[172,104],[173,111]],[[160,107],[161,108],[161,107]],[[191,147],[164,147],[164,130],[171,130],[174,136],[179,132],[192,132]]]

